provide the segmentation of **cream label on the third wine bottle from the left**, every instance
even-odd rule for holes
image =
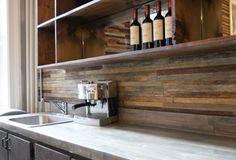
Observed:
[[[153,38],[154,41],[164,39],[164,26],[163,20],[157,19],[153,22]]]

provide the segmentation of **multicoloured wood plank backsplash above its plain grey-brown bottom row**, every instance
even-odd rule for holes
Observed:
[[[236,115],[236,53],[43,71],[44,97],[76,100],[83,79],[118,82],[120,106],[214,115]]]

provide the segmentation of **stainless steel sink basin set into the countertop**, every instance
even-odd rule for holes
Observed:
[[[32,115],[32,116],[11,118],[9,120],[31,127],[72,122],[70,118],[56,115]]]

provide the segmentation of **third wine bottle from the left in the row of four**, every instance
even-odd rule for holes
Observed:
[[[154,47],[165,46],[165,36],[164,36],[164,17],[161,15],[161,1],[158,0],[156,3],[157,15],[153,21],[153,40]]]

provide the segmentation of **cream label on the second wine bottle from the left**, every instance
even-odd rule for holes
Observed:
[[[142,24],[142,40],[143,43],[152,42],[152,23]]]

